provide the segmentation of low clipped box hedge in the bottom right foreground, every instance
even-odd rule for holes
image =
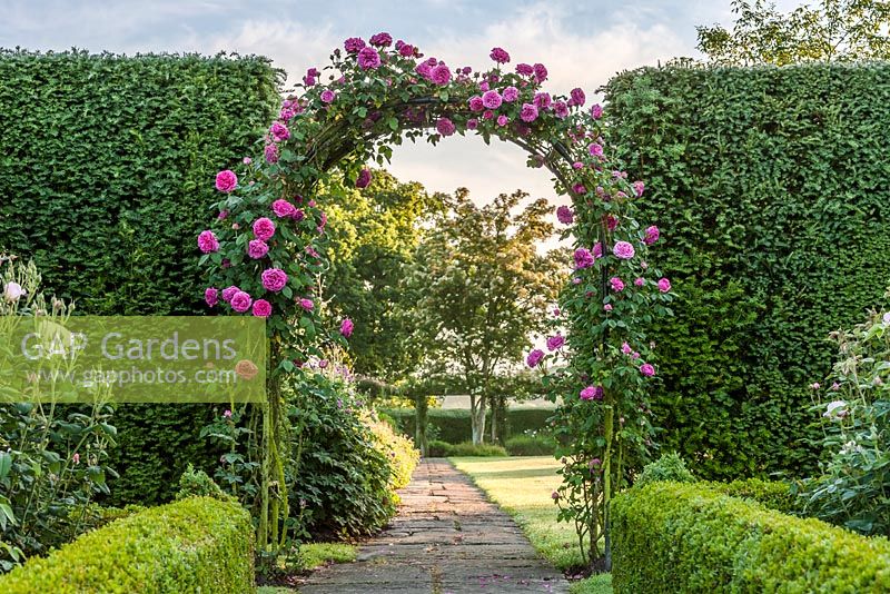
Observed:
[[[888,592],[890,542],[798,518],[708,485],[616,497],[612,585],[623,592]]]

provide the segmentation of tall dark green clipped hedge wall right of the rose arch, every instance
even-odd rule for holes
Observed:
[[[708,478],[807,472],[831,330],[890,279],[890,65],[645,68],[606,88],[681,299],[659,437]]]

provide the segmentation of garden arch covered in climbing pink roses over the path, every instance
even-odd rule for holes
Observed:
[[[216,220],[200,234],[210,287],[210,308],[267,319],[270,344],[268,400],[258,430],[261,488],[254,502],[258,545],[284,542],[288,515],[284,493],[288,426],[283,386],[301,363],[320,356],[339,333],[325,333],[316,303],[324,258],[324,205],[315,196],[329,180],[363,188],[404,138],[435,143],[475,133],[513,142],[531,167],[553,175],[561,207],[576,246],[555,324],[570,328],[568,341],[551,353],[534,350],[528,365],[544,368],[553,398],[562,399],[557,430],[566,444],[565,483],[554,498],[578,526],[582,550],[599,556],[609,525],[607,502],[630,457],[644,454],[650,438],[645,395],[655,367],[645,325],[671,299],[670,283],[649,269],[645,250],[659,229],[636,221],[643,182],[632,181],[609,156],[603,109],[587,106],[584,92],[544,90],[547,69],[518,63],[501,48],[491,67],[474,70],[426,57],[388,33],[369,42],[347,39],[330,63],[312,68],[281,105],[266,135],[261,157],[245,159],[237,172],[221,171]],[[606,533],[606,550],[609,548]]]

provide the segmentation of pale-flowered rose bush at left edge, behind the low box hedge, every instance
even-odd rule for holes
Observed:
[[[2,255],[0,290],[4,337],[46,331],[39,329],[43,325],[63,327],[73,310],[70,304],[44,297],[33,263],[18,264]],[[0,344],[4,362],[12,360],[11,349],[18,348],[9,343]],[[41,373],[63,373],[75,363],[49,358]],[[96,398],[93,405],[65,406],[57,404],[66,389],[60,384],[34,382],[23,394],[0,385],[0,573],[83,529],[83,514],[77,512],[107,494],[107,479],[116,476],[108,466],[107,451],[117,429],[110,407],[102,404],[107,392],[98,387],[85,393]],[[14,402],[18,396],[27,402]]]

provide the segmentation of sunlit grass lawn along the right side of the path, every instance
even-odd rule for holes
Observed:
[[[558,508],[551,498],[561,483],[556,474],[558,461],[552,456],[449,459],[516,521],[532,545],[554,566],[567,570],[581,564],[575,529],[572,524],[556,522]],[[573,594],[611,592],[607,574],[572,584]]]

